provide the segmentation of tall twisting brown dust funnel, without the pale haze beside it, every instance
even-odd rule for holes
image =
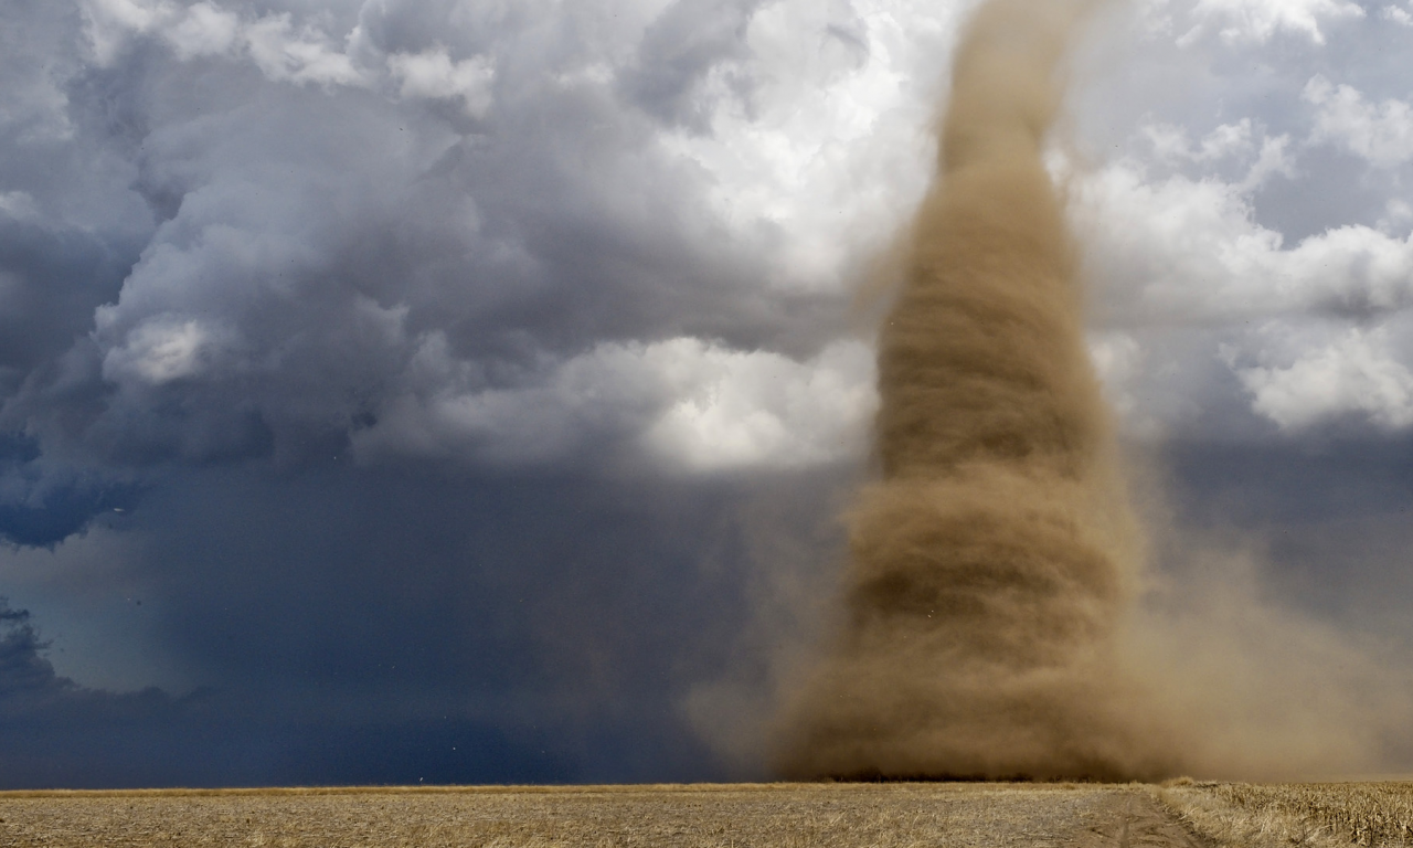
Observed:
[[[846,622],[787,711],[793,777],[1156,777],[1119,633],[1135,522],[1043,163],[1085,6],[991,0],[962,34],[879,338],[882,478],[849,514]]]

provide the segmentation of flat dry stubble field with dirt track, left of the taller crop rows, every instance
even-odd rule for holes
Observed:
[[[0,845],[1194,845],[1146,790],[769,784],[0,796]],[[1183,841],[1136,841],[1163,828]]]

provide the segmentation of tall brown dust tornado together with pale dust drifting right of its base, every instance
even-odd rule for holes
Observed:
[[[1379,663],[1253,568],[1197,551],[1166,585],[1145,570],[1044,164],[1094,11],[991,0],[962,33],[940,175],[879,331],[844,623],[786,697],[783,776],[1348,773],[1409,717]]]

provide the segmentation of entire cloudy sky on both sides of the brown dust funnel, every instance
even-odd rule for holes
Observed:
[[[766,775],[971,6],[8,0],[0,784]],[[1410,48],[1115,3],[1050,154],[1176,536],[1390,656]]]

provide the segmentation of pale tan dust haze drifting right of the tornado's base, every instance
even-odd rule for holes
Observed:
[[[1142,499],[1140,499],[1142,500]],[[1337,625],[1283,591],[1259,537],[1159,517],[1123,654],[1183,773],[1224,780],[1407,775],[1413,673],[1388,635]],[[1164,538],[1171,537],[1171,538]]]

